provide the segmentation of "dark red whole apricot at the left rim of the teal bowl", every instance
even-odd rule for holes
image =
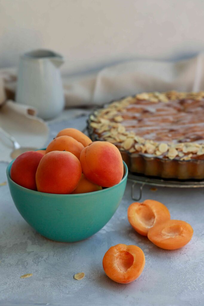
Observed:
[[[35,174],[43,156],[36,151],[27,151],[19,155],[11,166],[11,179],[22,187],[37,190]]]

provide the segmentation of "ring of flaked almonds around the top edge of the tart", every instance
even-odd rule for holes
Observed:
[[[199,101],[204,99],[204,91],[190,93],[177,91],[143,92],[135,95],[134,97],[127,97],[122,100],[114,101],[108,107],[95,111],[92,115],[90,115],[90,125],[92,128],[97,129],[98,134],[102,134],[100,135],[101,140],[104,139],[113,144],[120,143],[120,150],[127,150],[130,153],[136,151],[154,154],[156,156],[165,155],[169,159],[174,159],[176,156],[178,156],[180,160],[189,160],[193,154],[196,154],[197,156],[204,155],[204,144],[193,142],[161,143],[154,140],[146,140],[141,136],[136,135],[134,131],[127,131],[127,127],[121,124],[122,121],[128,120],[128,118],[124,119],[122,115],[123,112],[128,111],[126,107],[130,105],[132,108],[137,107],[137,103],[142,104],[138,100],[148,100],[152,103],[170,103],[172,100],[180,99]],[[165,107],[166,106],[164,106],[164,108]],[[154,106],[152,106],[152,108],[154,109]],[[135,120],[137,119],[137,117],[134,118]],[[177,140],[183,141],[183,138]]]

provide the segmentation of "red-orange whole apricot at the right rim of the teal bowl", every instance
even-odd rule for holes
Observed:
[[[95,141],[81,151],[82,172],[94,184],[112,187],[123,177],[123,160],[116,146]]]

